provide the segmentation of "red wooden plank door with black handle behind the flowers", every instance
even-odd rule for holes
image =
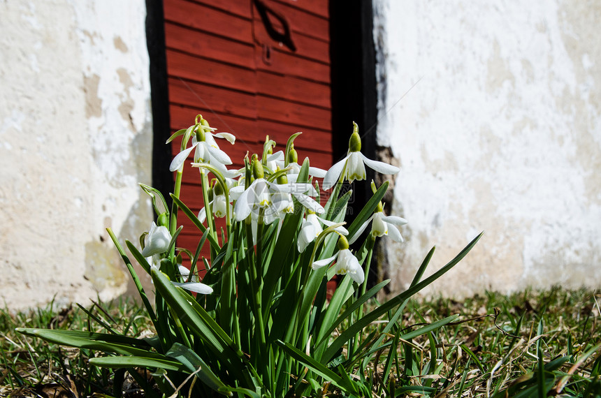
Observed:
[[[265,136],[283,149],[289,135],[299,161],[333,163],[328,1],[164,0],[171,129],[201,113],[211,126],[236,135],[219,142],[240,167],[261,153]],[[276,150],[277,150],[276,149]],[[173,142],[173,156],[180,142]],[[202,203],[198,171],[186,166],[182,200]],[[185,217],[178,246],[194,251],[198,230]]]

